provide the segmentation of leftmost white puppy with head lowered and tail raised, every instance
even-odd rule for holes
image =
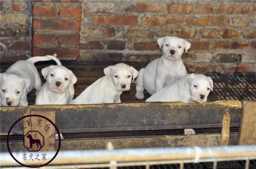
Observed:
[[[49,55],[48,55],[49,56]],[[1,105],[27,106],[27,94],[36,89],[36,94],[41,89],[41,79],[34,63],[48,61],[53,56],[35,56],[27,60],[19,60],[11,65],[5,73],[0,74]]]

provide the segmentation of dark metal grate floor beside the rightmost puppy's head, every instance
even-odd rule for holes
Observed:
[[[209,101],[256,100],[256,74],[234,73],[230,75],[211,72],[207,76],[213,79],[214,84],[213,94],[210,93]]]

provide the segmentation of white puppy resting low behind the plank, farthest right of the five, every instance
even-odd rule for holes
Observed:
[[[151,97],[146,102],[184,102],[204,103],[207,96],[213,90],[213,81],[202,74],[188,74],[168,85]],[[193,129],[185,129],[185,134],[195,134]]]

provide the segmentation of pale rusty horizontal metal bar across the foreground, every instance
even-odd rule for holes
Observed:
[[[256,145],[235,145],[218,147],[172,147],[172,148],[136,148],[136,149],[117,149],[117,150],[75,150],[60,151],[51,164],[81,164],[81,163],[110,163],[110,161],[119,162],[138,162],[138,161],[177,161],[192,160],[200,161],[202,159],[220,158],[232,160],[234,158],[247,157],[256,159]],[[24,152],[14,152],[14,156],[20,157]],[[55,152],[48,152],[53,156]],[[68,154],[68,155],[67,155]],[[178,154],[178,155],[177,155]],[[19,159],[18,159],[19,160]],[[220,160],[221,161],[221,160]],[[1,166],[17,165],[9,153],[0,154]],[[41,162],[42,163],[42,162]],[[41,163],[37,163],[40,165]],[[180,161],[178,162],[180,163]],[[31,165],[31,162],[24,163]],[[151,162],[149,164],[152,165]],[[159,163],[157,163],[159,164]],[[144,163],[146,165],[146,163]],[[117,166],[119,166],[117,164]]]

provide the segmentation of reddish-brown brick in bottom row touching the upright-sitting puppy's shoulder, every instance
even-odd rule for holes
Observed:
[[[223,71],[223,67],[222,65],[219,64],[206,64],[206,63],[202,63],[202,64],[185,64],[186,68],[188,69],[189,73],[208,73],[208,72],[222,72]]]

